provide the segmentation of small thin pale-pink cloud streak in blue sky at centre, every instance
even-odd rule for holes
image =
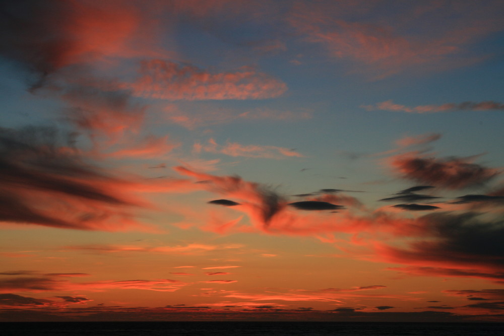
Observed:
[[[240,145],[238,143],[227,143],[218,145],[215,140],[210,139],[207,145],[199,143],[194,146],[196,152],[205,151],[210,153],[220,153],[232,157],[243,156],[248,158],[272,158],[280,159],[284,157],[304,157],[303,155],[287,148],[276,146]]]

